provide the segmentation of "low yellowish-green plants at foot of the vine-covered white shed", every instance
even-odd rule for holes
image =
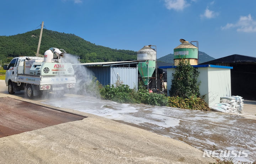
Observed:
[[[182,98],[178,96],[168,97],[167,106],[170,106],[173,108],[210,111],[208,104],[199,97],[190,97],[190,98]]]

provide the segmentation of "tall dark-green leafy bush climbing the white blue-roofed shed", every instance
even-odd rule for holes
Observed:
[[[189,60],[181,59],[175,72],[172,73],[172,84],[169,90],[170,96],[190,98],[199,97],[199,72],[190,65]]]

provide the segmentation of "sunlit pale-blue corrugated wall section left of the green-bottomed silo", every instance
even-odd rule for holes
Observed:
[[[119,77],[119,80],[130,86],[131,89],[138,88],[138,68],[112,67],[110,77],[111,84],[115,84]]]

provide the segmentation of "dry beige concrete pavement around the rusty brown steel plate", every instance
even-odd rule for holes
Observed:
[[[0,97],[26,100],[21,94],[8,95],[0,88]],[[26,101],[39,104],[38,100]],[[215,161],[203,158],[202,151],[169,137],[81,111],[62,110],[87,118],[0,138],[0,164]]]

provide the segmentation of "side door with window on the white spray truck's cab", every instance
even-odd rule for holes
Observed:
[[[16,78],[17,78],[17,69],[16,69],[16,65],[17,65],[17,58],[12,59],[12,61],[10,62],[10,64],[7,67],[6,73],[5,73],[5,83],[8,84],[8,80],[10,79],[13,82],[16,82]]]

